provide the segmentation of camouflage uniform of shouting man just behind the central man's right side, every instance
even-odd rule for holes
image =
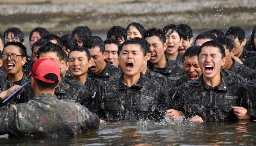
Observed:
[[[170,84],[173,86],[174,83],[179,80],[184,74],[183,64],[176,60],[171,60],[166,57],[167,65],[165,68],[156,68],[152,65],[151,62],[148,62],[148,68],[154,72],[163,74],[168,77]]]

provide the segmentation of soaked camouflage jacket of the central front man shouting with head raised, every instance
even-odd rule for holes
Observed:
[[[162,120],[168,99],[162,85],[141,73],[140,80],[131,87],[123,84],[122,77],[103,83],[89,110],[108,122]]]

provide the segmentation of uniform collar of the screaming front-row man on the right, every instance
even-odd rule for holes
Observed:
[[[221,90],[221,91],[227,91],[227,85],[225,83],[225,79],[226,77],[222,75],[222,73],[220,73],[220,75],[222,76],[222,81],[220,82],[220,84],[216,87],[210,87],[209,85],[205,84],[204,80],[203,80],[203,74],[199,77],[198,80],[198,85],[200,87],[203,87],[205,89],[217,89],[217,90]]]

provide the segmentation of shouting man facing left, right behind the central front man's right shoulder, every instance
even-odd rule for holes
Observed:
[[[167,47],[164,32],[160,29],[152,28],[146,31],[144,38],[148,41],[151,53],[148,68],[168,77],[170,84],[173,86],[184,74],[183,64],[179,61],[168,59],[164,55]]]

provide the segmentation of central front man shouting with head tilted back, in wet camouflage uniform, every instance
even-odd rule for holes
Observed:
[[[108,122],[118,120],[161,120],[169,99],[159,83],[141,73],[142,64],[150,57],[146,40],[133,38],[118,49],[119,67],[123,75],[103,83],[88,104]]]

